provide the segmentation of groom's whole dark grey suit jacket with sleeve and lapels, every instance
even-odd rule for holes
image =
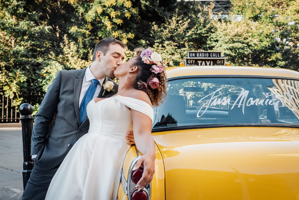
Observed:
[[[44,169],[58,166],[68,151],[80,137],[88,132],[89,119],[80,125],[79,98],[85,74],[82,70],[60,70],[53,80],[34,120],[31,137],[31,155]],[[106,81],[112,81],[106,77]],[[118,84],[114,82],[115,91],[106,91],[103,87],[98,97],[110,97],[116,94]],[[49,124],[55,116],[54,124],[49,131]],[[74,158],[76,159],[76,158]]]

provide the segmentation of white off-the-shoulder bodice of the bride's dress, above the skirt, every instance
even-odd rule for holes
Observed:
[[[153,121],[152,107],[139,99],[120,95],[98,101],[91,100],[87,105],[89,133],[99,133],[112,139],[125,139],[128,131],[133,130],[130,110],[136,110],[149,116]]]

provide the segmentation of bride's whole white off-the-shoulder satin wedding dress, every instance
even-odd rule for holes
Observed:
[[[66,155],[51,181],[47,200],[117,198],[123,159],[130,148],[126,134],[133,130],[127,107],[153,120],[152,107],[135,98],[117,95],[88,103],[89,132]]]

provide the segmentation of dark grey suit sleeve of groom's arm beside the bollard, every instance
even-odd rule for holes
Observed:
[[[60,82],[61,71],[58,71],[55,79],[49,86],[34,119],[31,136],[31,155],[37,154],[47,139],[49,124],[54,118],[59,103]]]

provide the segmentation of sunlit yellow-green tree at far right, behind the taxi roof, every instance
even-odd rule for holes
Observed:
[[[298,0],[232,0],[230,17],[217,18],[209,44],[234,65],[298,70]],[[239,18],[237,18],[239,17]]]

